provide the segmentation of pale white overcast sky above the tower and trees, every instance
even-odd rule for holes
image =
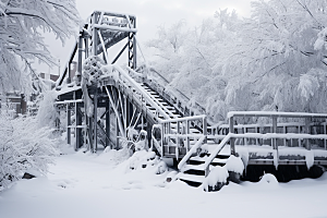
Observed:
[[[251,0],[76,0],[82,19],[86,19],[94,10],[104,10],[136,15],[137,39],[144,44],[157,35],[157,26],[170,26],[180,20],[189,26],[196,26],[203,20],[213,17],[219,9],[235,9],[240,16],[249,16]],[[53,57],[66,62],[73,39],[66,41],[64,48],[53,36],[46,35],[46,41]],[[39,71],[49,72],[46,65],[36,66]],[[50,71],[58,72],[58,68]]]

